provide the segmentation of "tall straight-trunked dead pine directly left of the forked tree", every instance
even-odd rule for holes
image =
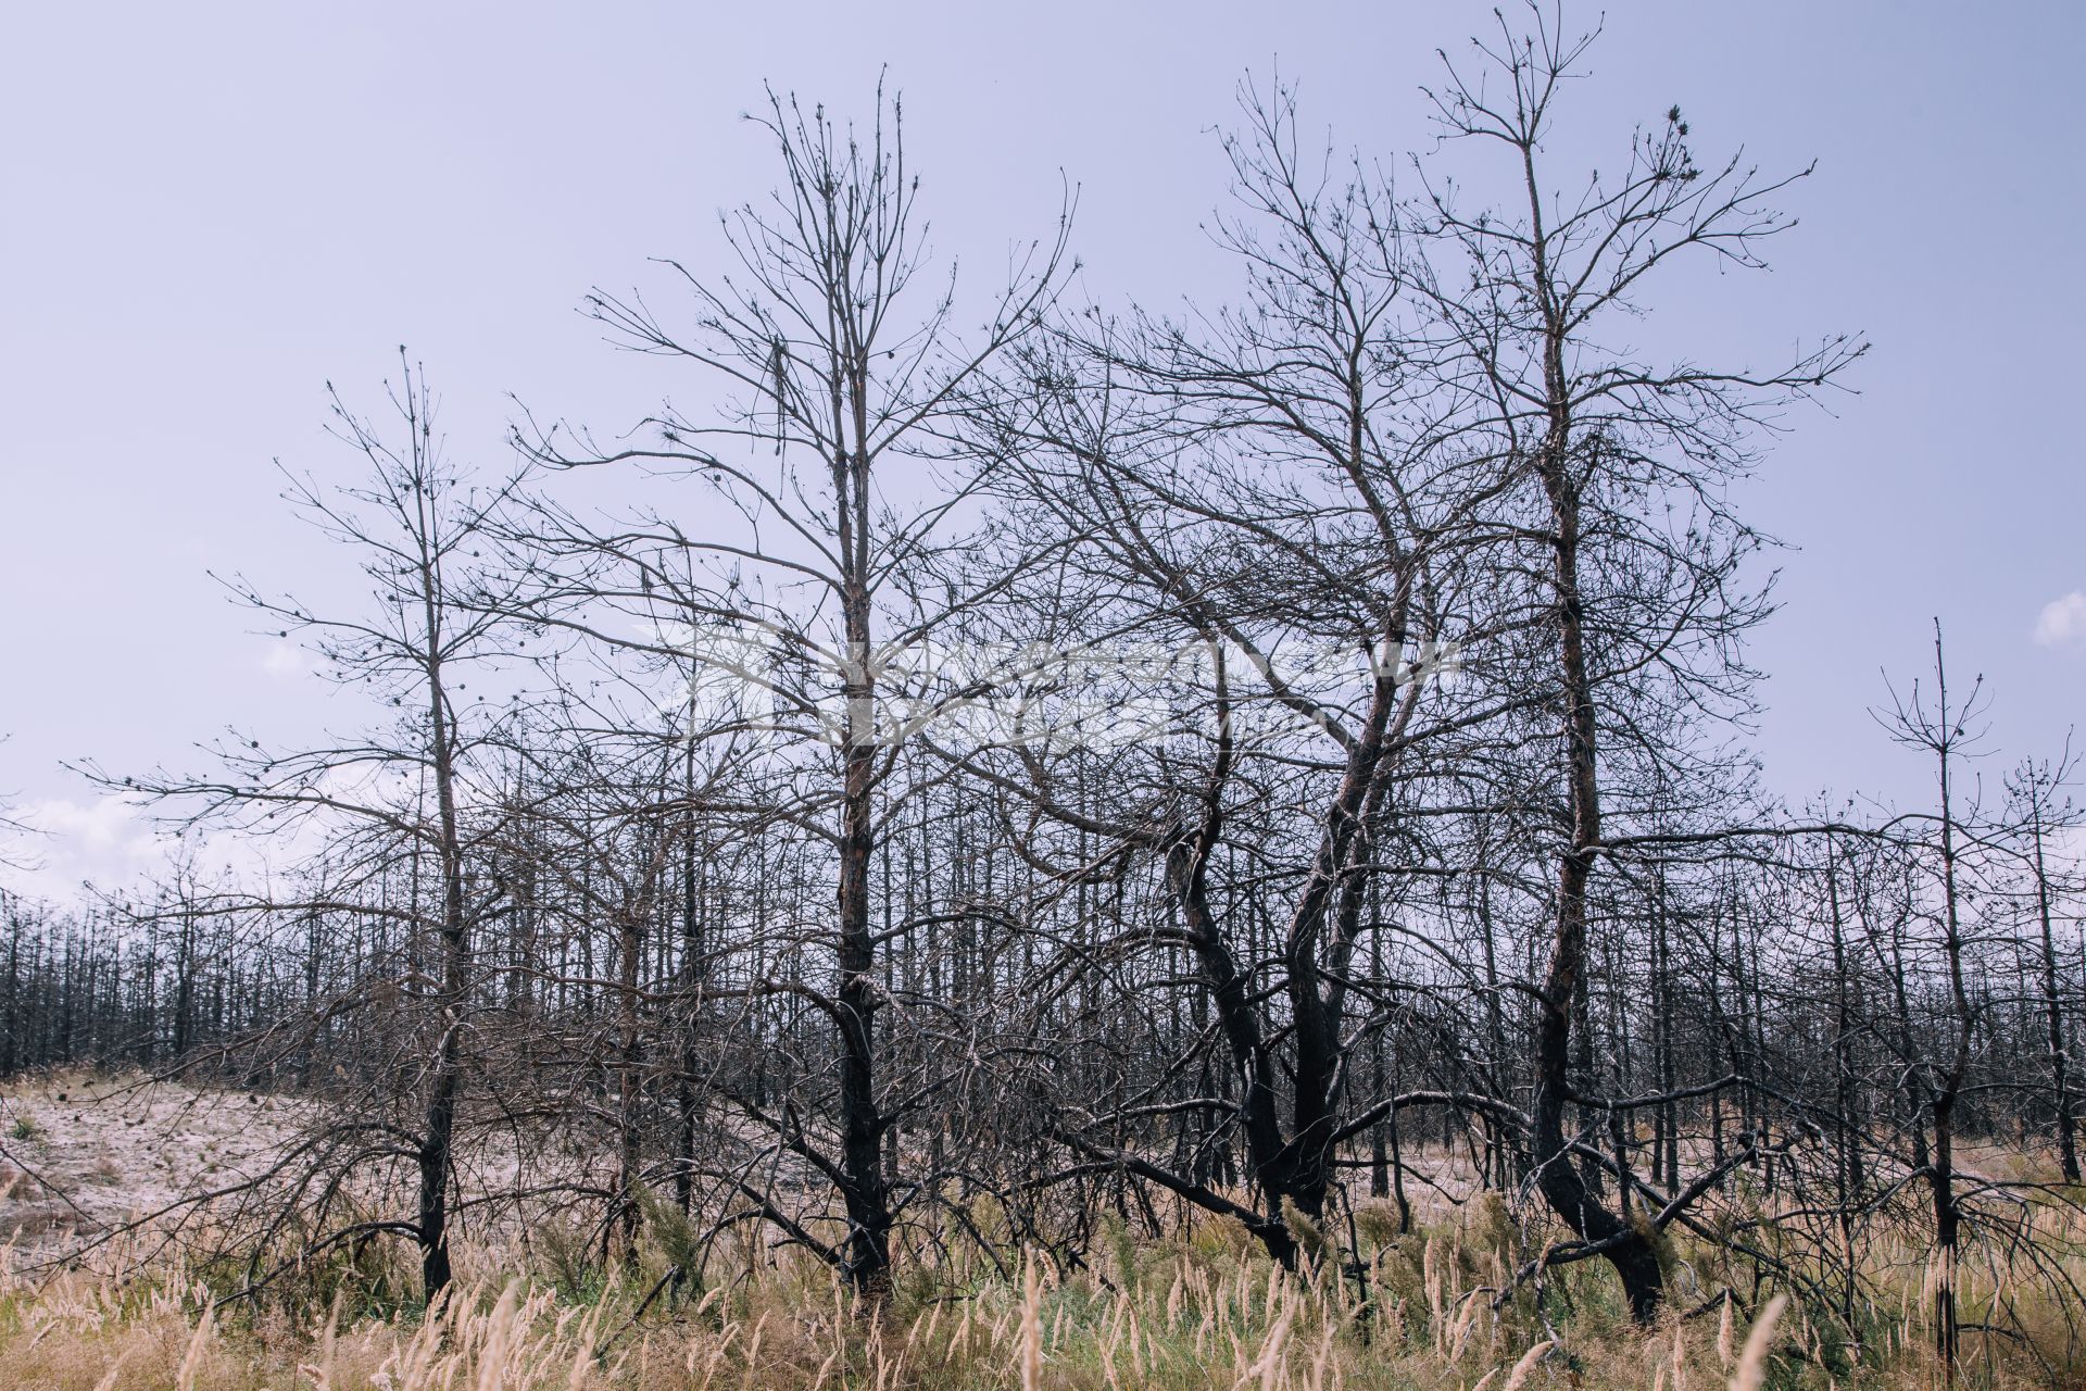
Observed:
[[[715,628],[761,646],[701,657],[745,663],[738,676],[761,705],[749,719],[776,753],[776,778],[747,811],[763,815],[774,838],[820,853],[832,909],[774,943],[789,959],[824,957],[820,970],[757,976],[736,995],[809,1005],[830,1026],[834,1057],[799,1078],[830,1078],[830,1093],[774,1103],[755,1087],[730,1103],[830,1185],[845,1235],[826,1241],[814,1230],[820,1214],[786,1210],[751,1178],[741,1195],[857,1289],[880,1291],[895,1224],[891,1166],[903,1162],[887,1147],[903,1107],[880,1066],[878,1016],[891,1007],[882,957],[905,930],[878,932],[874,884],[891,805],[905,797],[897,749],[907,705],[895,699],[893,665],[974,601],[937,582],[962,551],[949,534],[980,469],[949,448],[947,421],[980,371],[1035,327],[1058,284],[1068,215],[1016,259],[999,290],[964,309],[985,319],[966,338],[953,271],[937,284],[928,263],[899,102],[878,90],[872,121],[855,129],[770,94],[753,123],[772,138],[782,181],[770,202],[724,219],[741,273],[707,277],[670,263],[693,298],[686,327],[636,294],[588,298],[617,342],[693,367],[728,405],[715,417],[665,409],[628,448],[595,448],[565,428],[522,438],[551,471],[622,463],[690,480],[703,523],[665,505],[603,530],[544,507],[522,540],[538,557],[532,611],[542,621],[638,657],[672,657],[688,649],[684,634]],[[670,619],[682,636],[630,638],[630,613]]]

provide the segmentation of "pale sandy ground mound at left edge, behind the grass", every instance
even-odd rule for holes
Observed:
[[[265,1166],[294,1105],[142,1078],[0,1089],[0,1243],[58,1249]]]

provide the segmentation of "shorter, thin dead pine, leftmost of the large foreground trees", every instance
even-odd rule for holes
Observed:
[[[311,749],[269,749],[254,738],[229,736],[213,747],[221,772],[200,778],[88,772],[104,786],[165,803],[190,822],[257,834],[313,826],[338,847],[357,840],[392,845],[396,857],[411,863],[403,897],[388,893],[384,882],[371,884],[378,888],[373,901],[338,882],[284,882],[221,895],[213,918],[288,916],[302,924],[302,934],[317,930],[315,913],[348,907],[384,913],[409,930],[407,978],[382,995],[421,1005],[411,1022],[413,1039],[392,1072],[411,1078],[415,1097],[365,1101],[417,1109],[407,1145],[415,1199],[409,1216],[361,1226],[409,1235],[417,1243],[423,1295],[432,1301],[451,1280],[455,1143],[476,986],[474,938],[478,926],[499,911],[496,890],[474,893],[474,855],[496,828],[474,815],[471,788],[503,749],[501,730],[509,711],[488,705],[484,694],[467,694],[465,678],[494,659],[507,640],[507,605],[490,601],[484,557],[492,546],[490,517],[507,505],[515,480],[478,488],[444,459],[426,373],[405,361],[403,350],[401,359],[403,375],[390,388],[396,430],[371,425],[334,396],[332,434],[361,455],[361,473],[332,486],[292,473],[284,494],[325,540],[355,555],[369,586],[367,609],[321,613],[296,599],[267,594],[244,578],[225,580],[234,601],[259,615],[269,636],[300,638],[323,676],[382,711],[380,724]],[[388,728],[382,724],[386,717]],[[363,863],[382,861],[371,857]],[[186,966],[190,930],[184,924],[177,1051],[186,1047],[190,1016],[198,1009],[190,1001]],[[348,999],[315,997],[309,1009],[321,1016],[363,1007],[373,999],[365,984],[357,982]],[[284,1011],[277,1022],[292,1018],[294,1011]],[[282,1030],[259,1032],[267,1041]],[[357,1162],[396,1153],[363,1147]],[[338,1237],[328,1233],[323,1239]]]

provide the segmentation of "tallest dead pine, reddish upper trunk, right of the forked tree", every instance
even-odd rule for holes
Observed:
[[[1446,142],[1496,158],[1514,192],[1469,206],[1458,186],[1421,165],[1412,275],[1437,309],[1444,371],[1473,384],[1462,440],[1525,469],[1514,526],[1525,574],[1539,576],[1527,682],[1554,719],[1556,795],[1531,809],[1550,822],[1556,849],[1529,1041],[1529,1160],[1535,1187],[1577,1237],[1546,1262],[1604,1258],[1633,1314],[1650,1320],[1665,1295],[1652,1239],[1592,1189],[1567,1128],[1581,1095],[1575,1011],[1594,878],[1629,834],[1604,817],[1619,780],[1652,776],[1656,740],[1685,738],[1663,711],[1715,717],[1746,707],[1738,642],[1765,601],[1744,588],[1742,561],[1763,538],[1729,511],[1723,484],[1746,471],[1750,440],[1775,409],[1832,384],[1863,344],[1827,338],[1767,371],[1633,357],[1625,323],[1650,309],[1663,271],[1692,259],[1761,267],[1761,244],[1790,225],[1771,200],[1806,171],[1763,177],[1738,158],[1696,165],[1673,108],[1633,136],[1619,175],[1558,186],[1546,144],[1594,38],[1560,31],[1539,4],[1521,13],[1525,29],[1502,15],[1494,40],[1473,40],[1471,65],[1448,63],[1429,92]],[[1633,840],[1640,853],[1656,845]],[[1652,1224],[1677,1216],[1667,1210]]]

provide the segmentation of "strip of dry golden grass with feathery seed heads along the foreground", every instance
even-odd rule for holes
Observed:
[[[1481,1293],[1494,1262],[1483,1214],[1375,1251],[1377,1299],[1350,1280],[1289,1276],[1241,1255],[1224,1224],[1118,1243],[1103,1268],[1041,1258],[1005,1276],[978,1260],[914,1266],[880,1312],[822,1268],[745,1233],[709,1287],[651,1303],[659,1253],[603,1274],[584,1297],[567,1272],[467,1253],[457,1297],[355,1308],[342,1272],[265,1308],[215,1308],[211,1272],[127,1278],[83,1270],[0,1274],[0,1387],[23,1391],[1502,1391],[1506,1387],[1927,1387],[1917,1291],[1852,1366],[1800,1303],[1633,1328],[1604,1276],[1554,1280],[1537,1316]],[[328,1289],[332,1295],[321,1299]],[[1725,1310],[1731,1305],[1727,1303]],[[1779,1314],[1779,1318],[1777,1318]],[[1736,1347],[1742,1343],[1742,1347]],[[1965,1385],[2053,1385],[2032,1358],[1984,1360]],[[2055,1383],[2078,1385],[2078,1383]]]

